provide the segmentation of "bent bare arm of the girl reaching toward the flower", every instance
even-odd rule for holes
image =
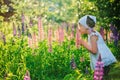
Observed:
[[[98,51],[98,48],[97,48],[97,39],[98,37],[97,36],[91,36],[90,38],[90,41],[91,41],[91,45],[84,41],[84,40],[80,40],[81,41],[81,44],[86,48],[88,49],[88,51],[90,51],[92,54],[96,54],[97,51]]]

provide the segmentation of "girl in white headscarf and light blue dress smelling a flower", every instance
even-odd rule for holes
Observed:
[[[88,34],[88,42],[80,39],[80,44],[88,49],[88,51],[90,51],[91,53],[90,66],[92,70],[95,70],[95,65],[98,60],[99,54],[101,55],[101,60],[104,63],[104,75],[107,76],[110,70],[109,66],[117,60],[105,44],[100,33],[94,30],[95,24],[95,16],[86,15],[80,18],[78,29],[81,34]]]

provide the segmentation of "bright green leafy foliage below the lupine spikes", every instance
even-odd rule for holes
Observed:
[[[31,49],[27,46],[25,39],[13,38],[4,46],[0,43],[0,77],[12,80],[20,80],[24,77],[26,70],[30,71],[32,80],[39,79],[80,79],[88,78],[92,73],[89,67],[88,52],[83,49],[76,49],[74,41],[65,41],[63,45],[53,43],[52,53],[48,52],[46,41],[40,42],[38,49]],[[70,45],[70,47],[68,47]],[[84,52],[84,53],[83,53]],[[70,67],[71,55],[75,55],[77,68]],[[84,55],[83,55],[84,54]],[[80,62],[80,57],[85,61]],[[81,66],[82,65],[82,66]],[[89,73],[85,76],[85,67],[88,66]],[[73,74],[73,75],[72,75]]]

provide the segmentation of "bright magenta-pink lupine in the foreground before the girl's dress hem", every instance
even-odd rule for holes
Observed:
[[[104,64],[101,60],[101,55],[99,55],[98,61],[95,66],[95,71],[94,71],[94,80],[103,80],[103,75],[104,75]]]

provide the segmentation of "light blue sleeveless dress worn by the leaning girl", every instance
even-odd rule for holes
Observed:
[[[95,31],[88,35],[89,44],[91,45],[90,37],[92,35],[96,35],[98,37],[98,40],[97,40],[98,52],[97,52],[97,54],[92,54],[92,53],[90,54],[91,69],[92,70],[95,69],[95,65],[98,60],[99,54],[101,54],[101,59],[102,59],[102,62],[104,63],[104,66],[108,66],[108,65],[116,62],[117,61],[116,58],[114,57],[114,55],[112,54],[110,49],[105,44],[105,42],[99,32]]]

